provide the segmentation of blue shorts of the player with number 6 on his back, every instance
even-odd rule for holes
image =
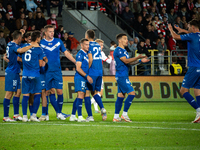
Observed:
[[[22,77],[22,94],[41,93],[41,80],[40,77]]]

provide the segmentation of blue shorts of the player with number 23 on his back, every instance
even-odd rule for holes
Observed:
[[[90,91],[101,91],[102,76],[91,76],[93,83],[87,82],[87,90]]]

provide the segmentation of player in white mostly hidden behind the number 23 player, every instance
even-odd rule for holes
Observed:
[[[103,62],[107,62],[108,64],[111,63],[112,61],[112,57],[110,55],[108,55],[108,57],[105,55],[105,53],[103,52],[103,44],[104,41],[101,39],[96,39],[95,42],[97,42],[100,47],[101,47],[101,57],[102,57],[102,61]],[[103,63],[102,62],[102,63]],[[99,94],[102,96],[103,95],[103,79],[102,79],[102,83],[101,83],[101,91],[99,92]],[[94,105],[94,109],[95,109],[95,113],[100,113],[99,109],[98,109],[98,104],[96,103],[96,101],[94,100],[94,98],[92,97],[91,99],[91,103]]]

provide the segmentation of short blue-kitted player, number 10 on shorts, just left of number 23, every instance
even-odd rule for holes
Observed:
[[[75,92],[77,92],[77,98],[73,103],[72,115],[69,121],[85,122],[86,120],[82,117],[82,102],[84,97],[89,97],[90,92],[86,93],[86,82],[92,83],[92,78],[88,75],[89,72],[89,59],[88,49],[89,41],[82,39],[81,50],[76,55],[76,74],[74,76]],[[76,118],[76,110],[78,111],[78,119]],[[90,120],[92,121],[92,120]],[[94,119],[93,119],[94,121]]]

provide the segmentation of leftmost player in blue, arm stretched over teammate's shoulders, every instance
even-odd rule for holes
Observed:
[[[3,121],[14,121],[14,120],[22,120],[22,117],[19,116],[19,98],[21,95],[20,89],[20,64],[17,61],[18,53],[24,53],[28,51],[30,48],[35,45],[30,45],[25,48],[20,48],[19,44],[22,40],[22,33],[18,30],[13,32],[13,41],[9,42],[6,48],[7,58],[9,60],[8,66],[5,71],[5,91],[6,95],[3,101],[4,106],[4,118]],[[13,96],[13,106],[14,106],[14,120],[9,118],[9,106],[10,99]]]

